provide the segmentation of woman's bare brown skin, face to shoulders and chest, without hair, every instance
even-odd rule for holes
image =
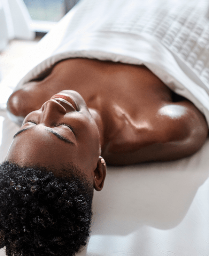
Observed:
[[[59,92],[83,110],[74,111],[58,98],[50,100]],[[119,62],[63,60],[50,73],[22,85],[9,98],[7,108],[24,117],[23,123],[33,121],[21,129],[34,127],[14,139],[6,160],[45,165],[71,161],[85,172],[91,170],[89,179],[97,190],[105,178],[102,157],[112,165],[174,160],[195,153],[208,134],[205,117],[189,100],[173,102],[170,89],[148,68]],[[60,121],[75,126],[80,139],[67,134],[65,125],[55,127]],[[59,141],[47,127],[77,143],[70,154],[63,152],[73,145]],[[26,153],[26,144],[34,145],[31,153]]]

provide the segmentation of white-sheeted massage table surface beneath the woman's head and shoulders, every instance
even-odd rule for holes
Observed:
[[[79,4],[82,2],[87,0]],[[73,15],[76,8],[69,15]],[[55,29],[62,33],[58,27]],[[14,74],[18,76],[20,71],[21,67],[16,68],[13,75],[0,84],[1,161],[19,129],[6,116],[4,108],[14,89],[11,79],[15,80]],[[196,154],[181,160],[108,166],[104,188],[94,191],[89,243],[77,255],[208,256],[208,167],[209,140]]]

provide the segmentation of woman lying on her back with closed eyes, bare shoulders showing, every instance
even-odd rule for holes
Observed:
[[[72,20],[80,12],[85,16],[82,8],[89,2],[89,13],[101,4],[93,0],[79,3],[69,26],[76,29]],[[109,2],[103,3],[106,15]],[[132,5],[114,2],[111,10],[115,8],[122,18],[127,15],[126,5],[133,7],[130,21],[142,8],[140,1]],[[169,18],[171,6],[155,4],[168,8]],[[178,4],[182,8],[182,1]],[[138,40],[137,33],[128,36]],[[43,40],[47,42],[47,36]],[[159,38],[155,40],[160,44]],[[107,46],[103,47],[106,51]],[[127,49],[127,45],[122,47]],[[79,54],[60,56],[50,68],[20,85],[8,100],[9,115],[24,119],[1,164],[0,244],[8,256],[79,252],[88,241],[93,189],[103,188],[106,164],[190,156],[208,134],[205,116],[195,105],[172,92],[145,65],[88,55],[80,58]]]

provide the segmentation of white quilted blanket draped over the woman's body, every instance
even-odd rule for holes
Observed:
[[[208,10],[207,0],[83,0],[3,83],[18,84],[17,90],[57,61],[73,57],[144,64],[208,121]]]

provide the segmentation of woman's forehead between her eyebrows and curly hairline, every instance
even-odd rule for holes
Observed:
[[[26,130],[12,141],[6,159],[14,162],[59,166],[76,161],[76,145],[59,140],[43,127]]]

